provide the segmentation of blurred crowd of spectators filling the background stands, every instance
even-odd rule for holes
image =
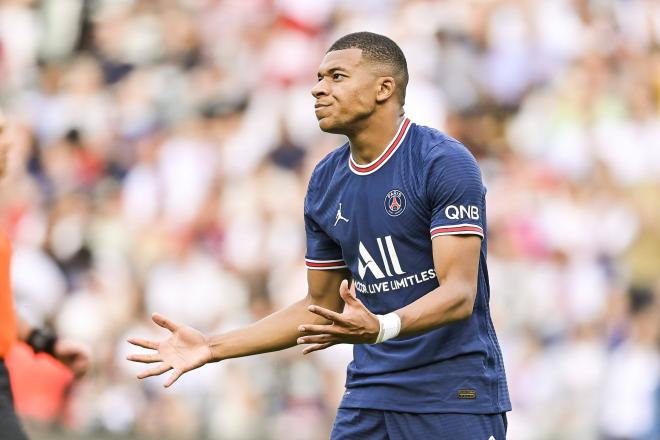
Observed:
[[[509,438],[660,438],[654,0],[0,2],[17,307],[94,352],[55,411],[23,407],[42,430],[327,438],[350,346],[165,390],[125,338],[163,336],[154,311],[215,333],[305,295],[306,184],[344,142],[309,91],[358,30],[401,45],[407,115],[482,167]]]

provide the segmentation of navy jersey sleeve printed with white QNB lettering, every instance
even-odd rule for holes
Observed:
[[[427,163],[431,238],[478,235],[483,239],[486,190],[472,154],[461,143],[448,140],[429,153]]]

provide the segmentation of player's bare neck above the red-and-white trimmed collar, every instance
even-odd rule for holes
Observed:
[[[403,113],[387,118],[373,118],[363,128],[347,135],[353,160],[358,164],[373,162],[396,136],[404,118]]]

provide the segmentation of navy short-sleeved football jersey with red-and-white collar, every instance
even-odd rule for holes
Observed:
[[[314,170],[305,197],[309,269],[348,267],[373,313],[400,309],[438,287],[432,240],[482,238],[471,317],[382,344],[357,344],[342,408],[489,414],[511,409],[489,312],[486,190],[458,141],[404,119],[372,163],[348,144]]]

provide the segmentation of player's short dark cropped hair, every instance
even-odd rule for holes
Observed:
[[[361,49],[364,58],[388,68],[396,81],[401,105],[403,105],[408,85],[408,63],[398,44],[384,35],[373,32],[354,32],[335,41],[328,52],[343,49]]]

